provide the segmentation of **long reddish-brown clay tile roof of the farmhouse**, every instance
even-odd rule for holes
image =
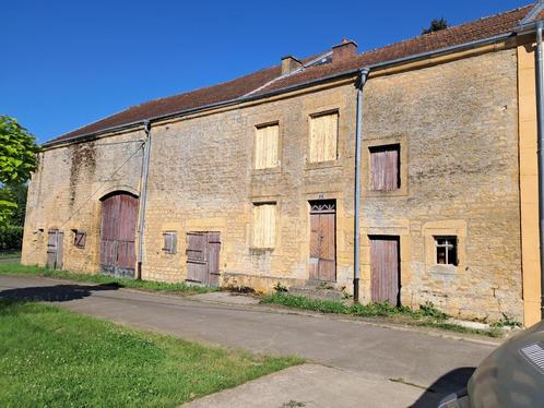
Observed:
[[[279,79],[281,75],[281,67],[276,65],[218,85],[167,98],[151,100],[130,107],[119,113],[98,120],[70,133],[66,133],[47,143],[60,142],[67,139],[93,134],[108,128],[120,127],[145,119],[164,117],[188,109],[240,98],[251,92],[252,95],[263,95],[286,86],[323,79],[343,71],[392,61],[398,58],[415,56],[422,52],[437,51],[446,47],[507,34],[516,28],[518,23],[533,7],[534,4],[529,4],[517,10],[480,19],[436,33],[422,35],[379,49],[363,52],[339,62],[306,68],[298,73],[281,79]],[[309,59],[306,61],[308,60]]]

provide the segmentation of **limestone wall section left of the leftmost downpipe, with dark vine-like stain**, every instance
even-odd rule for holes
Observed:
[[[143,131],[49,148],[28,185],[22,262],[45,265],[47,231],[64,233],[63,268],[99,269],[100,197],[123,190],[139,195]],[[85,231],[85,248],[74,245],[74,231]]]

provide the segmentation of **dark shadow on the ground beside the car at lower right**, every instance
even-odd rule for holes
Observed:
[[[475,367],[462,367],[444,374],[417,398],[412,408],[436,407],[445,396],[466,387],[475,370]]]

